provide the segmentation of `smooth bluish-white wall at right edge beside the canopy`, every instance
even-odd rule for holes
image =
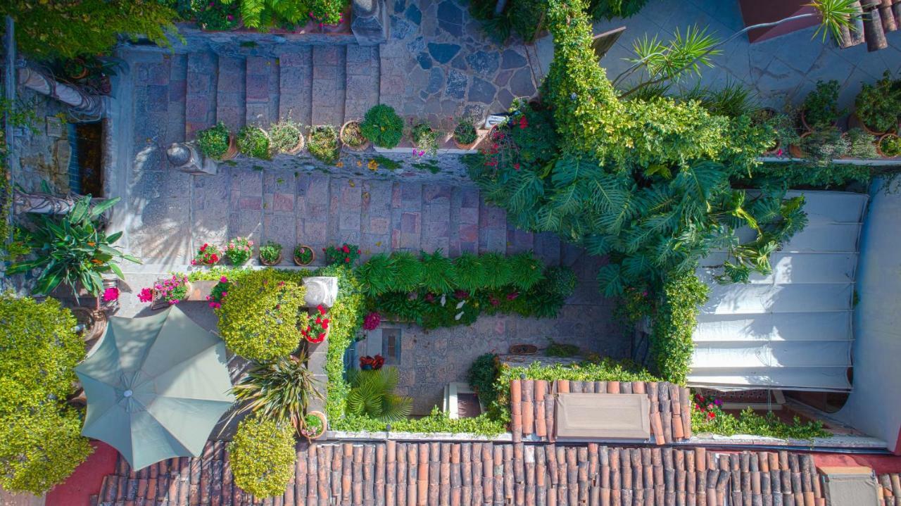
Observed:
[[[901,427],[901,193],[870,191],[854,310],[854,382],[837,418],[894,450]]]

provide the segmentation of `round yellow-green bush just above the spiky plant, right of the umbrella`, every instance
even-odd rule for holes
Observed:
[[[229,276],[232,288],[223,299],[219,333],[225,346],[241,357],[267,361],[286,357],[300,343],[298,312],[304,306],[305,287],[281,279],[272,269]]]

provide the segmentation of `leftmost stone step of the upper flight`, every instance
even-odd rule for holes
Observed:
[[[187,93],[185,96],[185,135],[210,127],[216,116],[217,57],[212,52],[187,55]]]

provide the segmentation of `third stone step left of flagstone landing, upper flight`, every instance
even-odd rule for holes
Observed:
[[[278,116],[309,125],[313,100],[312,46],[279,55],[278,79]]]

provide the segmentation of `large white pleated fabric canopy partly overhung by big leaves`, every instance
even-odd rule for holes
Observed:
[[[722,265],[724,255],[702,260],[697,274],[710,287],[710,298],[692,335],[689,384],[851,389],[854,276],[867,195],[803,194],[809,223],[773,254],[769,276],[720,285],[711,269]],[[753,232],[740,235],[750,239]]]

